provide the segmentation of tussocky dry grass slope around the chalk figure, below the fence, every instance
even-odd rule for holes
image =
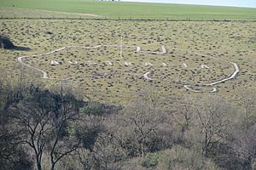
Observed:
[[[144,89],[154,89],[162,95],[189,93],[184,82],[211,82],[227,77],[232,65],[218,60],[202,58],[195,53],[236,62],[240,74],[236,79],[218,84],[218,94],[232,97],[238,88],[255,87],[256,30],[254,22],[167,22],[167,21],[96,21],[96,20],[1,20],[1,31],[19,46],[31,51],[1,49],[0,67],[18,72],[17,57],[42,54],[68,45],[96,46],[119,44],[138,45],[143,51],[160,51],[165,45],[166,54],[143,54],[125,49],[119,59],[119,48],[68,48],[44,58],[27,58],[26,63],[47,71],[49,77],[73,78],[73,85],[83,88],[84,94],[98,95],[99,99],[122,103],[134,98]],[[53,34],[48,34],[47,31]],[[51,60],[62,65],[49,65]],[[84,65],[70,65],[68,61]],[[96,61],[97,65],[86,64]],[[113,61],[108,65],[105,61]],[[125,66],[131,61],[132,66]],[[145,66],[150,62],[154,66]],[[168,66],[162,65],[165,62]],[[183,68],[183,63],[188,68]],[[201,69],[206,64],[210,69]],[[151,71],[155,81],[142,78]],[[102,77],[90,77],[108,73]],[[131,73],[133,73],[131,75]],[[136,75],[134,75],[136,74]],[[52,83],[47,81],[47,83]]]

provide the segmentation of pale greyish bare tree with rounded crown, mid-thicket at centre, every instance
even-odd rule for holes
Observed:
[[[150,101],[137,100],[125,108],[123,126],[130,128],[141,156],[148,151],[148,142],[158,135],[159,124],[164,120],[164,112]]]

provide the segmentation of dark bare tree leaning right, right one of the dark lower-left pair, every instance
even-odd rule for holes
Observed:
[[[51,161],[51,170],[55,169],[55,164],[61,160],[63,156],[67,156],[74,150],[81,147],[81,139],[75,137],[70,138],[67,127],[68,124],[75,122],[78,119],[79,105],[73,96],[63,95],[57,96],[59,101],[58,109],[55,111],[55,117],[50,121],[53,127],[50,135],[49,154]]]

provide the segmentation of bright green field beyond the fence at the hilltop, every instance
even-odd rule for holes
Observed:
[[[4,10],[3,7],[9,8],[8,10]],[[8,13],[7,11],[20,10],[20,8],[66,13],[97,14],[101,17],[108,18],[256,20],[256,8],[211,7],[160,3],[118,3],[98,2],[96,0],[0,0],[0,14],[3,17],[5,17],[5,13]],[[19,16],[22,16],[22,14]],[[26,13],[23,14],[23,16],[29,17],[30,14],[28,13],[27,15]],[[37,17],[38,15],[33,15],[32,13],[31,16]]]

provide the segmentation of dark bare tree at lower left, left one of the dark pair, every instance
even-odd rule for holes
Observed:
[[[15,124],[20,127],[22,142],[28,144],[34,151],[38,170],[41,170],[41,161],[48,134],[51,127],[48,127],[50,112],[53,105],[49,94],[38,95],[38,99],[32,98],[29,101],[20,101],[13,105],[11,116],[15,118]],[[43,99],[44,98],[44,99]],[[41,103],[40,100],[44,102]],[[38,100],[38,101],[37,101]]]

